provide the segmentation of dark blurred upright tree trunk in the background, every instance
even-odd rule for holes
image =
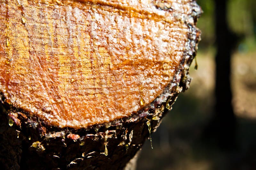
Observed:
[[[230,59],[236,36],[227,25],[227,0],[215,0],[215,107],[205,137],[216,140],[221,149],[232,149],[236,143],[236,117],[230,88]]]

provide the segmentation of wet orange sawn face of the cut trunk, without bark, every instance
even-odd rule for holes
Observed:
[[[130,116],[178,71],[190,3],[1,0],[0,91],[59,127]]]

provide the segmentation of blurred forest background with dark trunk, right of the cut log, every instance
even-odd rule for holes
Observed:
[[[154,149],[143,145],[138,170],[256,169],[256,1],[197,3],[198,69],[191,64],[190,88],[151,135]]]

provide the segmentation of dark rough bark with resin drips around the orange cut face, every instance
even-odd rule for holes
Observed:
[[[194,21],[201,8],[194,3]],[[196,23],[195,23],[196,24]],[[163,93],[143,109],[106,124],[73,129],[50,127],[29,113],[12,106],[0,93],[0,163],[3,169],[123,169],[134,167],[136,153],[150,132],[172,109],[181,91],[188,89],[189,66],[196,55],[200,31],[187,24],[188,42],[176,76]],[[19,124],[20,123],[20,124]],[[107,152],[106,152],[107,151]],[[132,158],[131,162],[129,162]],[[129,163],[128,163],[129,162]],[[82,168],[83,167],[83,168]]]

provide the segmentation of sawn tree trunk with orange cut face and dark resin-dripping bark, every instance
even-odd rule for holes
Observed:
[[[122,169],[182,90],[193,0],[0,0],[0,162]]]

